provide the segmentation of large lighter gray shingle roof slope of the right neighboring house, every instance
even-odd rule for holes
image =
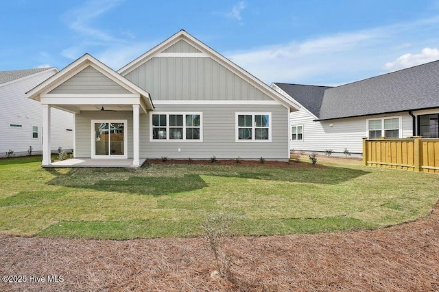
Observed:
[[[325,90],[320,120],[439,107],[439,61]]]

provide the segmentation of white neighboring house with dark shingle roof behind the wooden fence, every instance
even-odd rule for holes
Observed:
[[[291,148],[362,154],[362,137],[439,137],[439,61],[324,87],[273,83],[301,108],[291,114]]]

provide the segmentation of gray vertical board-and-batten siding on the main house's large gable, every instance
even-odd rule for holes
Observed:
[[[154,100],[272,101],[211,57],[153,57],[126,79]]]

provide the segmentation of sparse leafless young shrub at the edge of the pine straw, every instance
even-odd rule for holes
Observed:
[[[224,251],[224,239],[229,235],[232,223],[233,221],[225,213],[219,213],[208,215],[201,226],[215,258],[215,271],[211,276],[218,275],[222,278],[231,276],[232,258]]]

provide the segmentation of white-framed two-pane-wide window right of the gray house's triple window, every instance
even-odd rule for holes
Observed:
[[[236,113],[237,142],[271,142],[270,113]]]

